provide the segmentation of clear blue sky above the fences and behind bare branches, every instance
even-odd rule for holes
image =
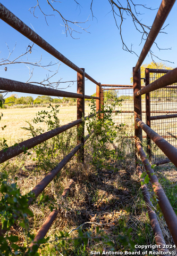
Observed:
[[[1,3],[7,7],[7,9],[14,13],[30,28],[34,28],[37,34],[39,34],[49,44],[65,55],[66,58],[74,62],[75,65],[79,66],[80,68],[85,68],[87,74],[93,77],[96,81],[102,84],[131,84],[130,77],[132,76],[132,67],[136,65],[138,57],[135,54],[122,50],[120,31],[116,28],[112,12],[109,12],[111,11],[111,6],[108,3],[108,0],[95,0],[95,2],[93,2],[92,9],[95,17],[97,18],[94,18],[93,21],[90,12],[91,1],[81,0],[81,10],[77,8],[77,4],[73,0],[64,0],[63,3],[56,3],[56,6],[60,7],[61,13],[67,19],[85,21],[90,15],[88,18],[90,21],[83,24],[83,27],[90,26],[88,28],[89,33],[83,31],[82,34],[73,34],[73,36],[80,37],[80,39],[73,39],[70,36],[66,37],[65,34],[62,34],[64,27],[60,25],[62,24],[62,20],[57,14],[55,17],[47,17],[49,26],[47,26],[45,22],[44,15],[38,9],[36,9],[36,15],[38,18],[33,17],[29,11],[29,8],[35,6],[36,2],[36,0],[1,0]],[[159,0],[135,0],[134,2],[138,4],[147,4],[147,7],[153,8],[158,8],[161,4],[161,1]],[[41,7],[45,13],[53,13],[49,9],[46,1],[39,0],[39,3],[41,3]],[[152,47],[154,54],[158,55],[159,58],[174,62],[174,64],[166,62],[166,65],[173,68],[176,67],[177,59],[177,38],[175,33],[176,6],[177,5],[175,3],[170,15],[168,15],[168,18],[164,23],[164,26],[170,23],[170,25],[165,29],[166,33],[168,34],[159,34],[156,39],[159,47],[172,47],[172,50],[159,51],[155,46]],[[151,26],[155,19],[157,10],[149,11],[146,9],[141,9],[140,11],[145,13],[144,15],[141,15],[141,21],[148,26]],[[133,44],[133,51],[139,55],[144,42],[139,45],[141,42],[141,35],[133,27],[130,17],[127,17],[127,19],[124,20],[122,29],[125,43],[127,43],[129,47],[131,44]],[[16,43],[11,60],[26,51],[26,48],[30,43],[29,39],[11,28],[2,20],[0,20],[0,33],[0,59],[7,58],[9,55],[6,43],[8,44],[10,50],[13,49]],[[42,55],[41,63],[43,64],[47,64],[50,61],[55,63],[57,61],[52,55],[40,49],[40,47],[37,45],[34,45],[32,53],[28,54],[29,61],[40,60],[40,55]],[[157,59],[155,60],[158,62]],[[151,58],[146,57],[144,64],[149,62],[151,62]],[[64,65],[64,63],[61,62],[60,64],[58,74],[55,76],[55,78],[51,79],[51,82],[60,78],[63,78],[62,81],[75,81],[77,79],[77,73]],[[24,64],[7,65],[6,67],[7,71],[4,70],[4,66],[0,66],[1,77],[21,82],[26,82],[28,80],[29,69]],[[49,72],[44,69],[35,68],[31,82],[42,81],[48,74]],[[64,87],[64,85],[61,84],[61,87]],[[74,83],[74,85],[72,85],[70,88],[65,89],[65,91],[77,92],[76,83]],[[86,81],[86,94],[91,95],[95,92],[96,85],[90,81]],[[17,94],[19,97],[25,95],[23,93]],[[37,95],[33,94],[32,97],[36,98]]]

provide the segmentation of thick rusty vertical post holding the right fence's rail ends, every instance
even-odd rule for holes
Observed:
[[[134,103],[134,118],[138,117],[142,120],[142,111],[141,111],[141,95],[138,97],[134,97],[134,93],[138,92],[141,89],[141,69],[137,72],[134,72],[133,68],[133,103]],[[134,121],[134,139],[135,143],[137,141],[142,142],[142,129],[138,124]],[[136,147],[136,146],[135,146]],[[136,157],[137,162],[137,157]]]

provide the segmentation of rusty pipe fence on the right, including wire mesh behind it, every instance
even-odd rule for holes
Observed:
[[[145,169],[147,174],[149,175],[149,179],[151,181],[151,184],[154,189],[154,193],[158,197],[158,204],[163,212],[165,221],[167,223],[167,226],[170,230],[170,233],[173,237],[173,241],[175,245],[177,245],[177,218],[176,214],[173,211],[173,208],[168,201],[162,186],[159,184],[158,179],[156,175],[154,174],[154,170],[151,169],[151,164],[149,163],[147,156],[142,149],[141,143],[142,143],[142,130],[145,131],[147,134],[147,153],[148,157],[151,160],[151,140],[154,141],[154,143],[157,145],[157,147],[163,151],[163,153],[168,157],[167,159],[161,159],[163,161],[157,162],[157,165],[169,163],[170,161],[177,167],[177,161],[176,161],[176,155],[177,155],[177,149],[175,148],[176,144],[173,146],[171,143],[166,141],[163,137],[167,138],[168,136],[166,133],[171,135],[171,138],[175,138],[176,140],[176,126],[173,130],[171,130],[172,121],[174,120],[175,123],[175,117],[176,115],[171,115],[172,113],[176,113],[176,104],[174,105],[174,102],[169,104],[168,98],[175,98],[173,95],[174,93],[171,93],[170,90],[176,89],[176,86],[173,85],[177,82],[177,68],[173,70],[159,70],[159,69],[146,69],[145,70],[145,77],[146,77],[146,86],[144,88],[141,88],[141,77],[140,77],[140,66],[142,62],[145,60],[146,55],[148,54],[150,47],[153,45],[155,38],[157,37],[160,29],[163,26],[164,21],[166,20],[166,17],[168,13],[170,12],[173,4],[175,3],[175,0],[163,0],[161,3],[161,6],[159,7],[159,10],[157,12],[156,18],[153,22],[153,25],[151,27],[151,30],[149,32],[148,38],[145,42],[145,45],[141,51],[140,57],[137,61],[136,67],[133,68],[133,96],[134,96],[134,139],[135,139],[135,145],[138,149],[138,153],[140,155],[140,158],[142,162],[144,163]],[[155,73],[155,77],[150,77],[149,74]],[[158,75],[157,75],[158,74]],[[159,77],[159,74],[160,77]],[[152,79],[151,79],[152,78]],[[159,91],[160,90],[160,91]],[[152,94],[154,93],[154,94]],[[143,116],[141,111],[141,95],[146,94],[146,122],[142,122]],[[170,95],[169,95],[170,94]],[[158,100],[154,100],[157,99]],[[162,101],[163,99],[163,101]],[[160,103],[162,101],[162,106],[160,107]],[[153,102],[153,103],[151,103]],[[176,100],[175,100],[176,102]],[[170,106],[169,106],[170,105]],[[151,116],[151,113],[165,113],[170,114],[170,118],[167,118],[164,115],[154,115]],[[170,125],[165,125],[162,128],[162,122],[167,124],[167,121]],[[154,126],[154,123],[152,121],[155,121],[156,126]],[[157,123],[158,121],[158,123]],[[145,124],[146,123],[146,124]],[[160,125],[159,125],[160,124]],[[153,126],[154,129],[151,129]],[[157,127],[161,126],[160,129]],[[164,132],[159,135],[154,130],[158,131],[158,133],[163,130]],[[168,131],[168,132],[167,132]],[[174,133],[174,134],[173,134]],[[151,139],[151,140],[150,140]],[[176,143],[176,142],[175,142]],[[137,154],[136,154],[136,161],[137,161]],[[158,221],[155,220],[157,223]],[[152,225],[151,225],[152,226]],[[153,226],[152,226],[153,227]]]

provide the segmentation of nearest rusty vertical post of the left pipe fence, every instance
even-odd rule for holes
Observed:
[[[77,99],[77,119],[80,119],[85,116],[85,68],[81,68],[83,74],[77,73],[77,93],[83,94],[82,99]],[[85,131],[84,121],[77,126],[77,142],[84,143],[84,131]],[[79,161],[84,162],[84,147],[81,147],[78,153]]]

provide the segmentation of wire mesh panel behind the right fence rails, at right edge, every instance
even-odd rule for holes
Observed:
[[[163,70],[163,73],[149,73],[149,83],[154,82],[156,79],[167,73],[167,71],[169,70]],[[175,83],[173,85],[150,92],[150,127],[174,147],[177,147],[176,118],[166,117],[168,115],[177,114],[176,89],[177,84]],[[163,151],[159,149],[153,141],[151,141],[151,153],[152,161],[154,163],[167,158]]]

